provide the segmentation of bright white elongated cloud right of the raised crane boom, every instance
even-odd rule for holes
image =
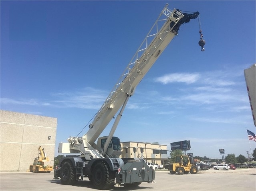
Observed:
[[[164,75],[162,77],[157,77],[155,82],[160,82],[163,84],[174,83],[174,82],[183,82],[187,84],[195,83],[200,78],[198,73],[171,73]]]

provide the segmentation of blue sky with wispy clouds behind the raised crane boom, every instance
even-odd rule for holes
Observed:
[[[222,148],[247,156],[256,148],[246,133],[256,128],[244,80],[256,63],[255,1],[1,1],[1,109],[58,118],[56,148],[77,136],[166,3],[200,12],[206,50],[198,19],[181,26],[129,99],[115,136],[168,149],[190,140],[194,156],[222,158]]]

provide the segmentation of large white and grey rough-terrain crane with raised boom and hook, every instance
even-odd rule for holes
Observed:
[[[113,135],[123,110],[139,82],[165,47],[178,34],[179,27],[199,15],[199,12],[187,14],[176,9],[171,11],[167,6],[168,4],[163,8],[115,84],[113,91],[95,114],[94,120],[89,124],[87,134],[82,137],[71,136],[68,138],[68,143],[59,143],[58,153],[80,153],[80,155],[67,155],[60,159],[58,168],[54,171],[54,178],[60,177],[62,184],[73,185],[77,180],[83,180],[84,177],[88,177],[96,189],[110,189],[115,185],[115,181],[117,185],[124,186],[138,186],[141,182],[154,182],[155,171],[143,158],[119,158],[121,155],[120,140]],[[160,24],[162,24],[161,28]],[[201,51],[204,51],[204,44],[201,38],[199,42],[202,47]],[[115,114],[117,114],[116,117]],[[115,121],[109,135],[99,137],[113,118]],[[97,144],[95,144],[96,140]]]

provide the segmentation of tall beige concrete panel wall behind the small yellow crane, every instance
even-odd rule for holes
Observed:
[[[56,128],[57,118],[0,110],[0,171],[28,170],[39,146],[53,165]]]

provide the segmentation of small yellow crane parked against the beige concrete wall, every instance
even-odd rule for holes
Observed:
[[[44,153],[44,149],[39,146],[38,148],[38,157],[34,159],[32,165],[29,165],[30,172],[50,172],[52,171],[53,167],[51,165],[44,165],[44,162],[49,161],[49,158],[46,157]]]

